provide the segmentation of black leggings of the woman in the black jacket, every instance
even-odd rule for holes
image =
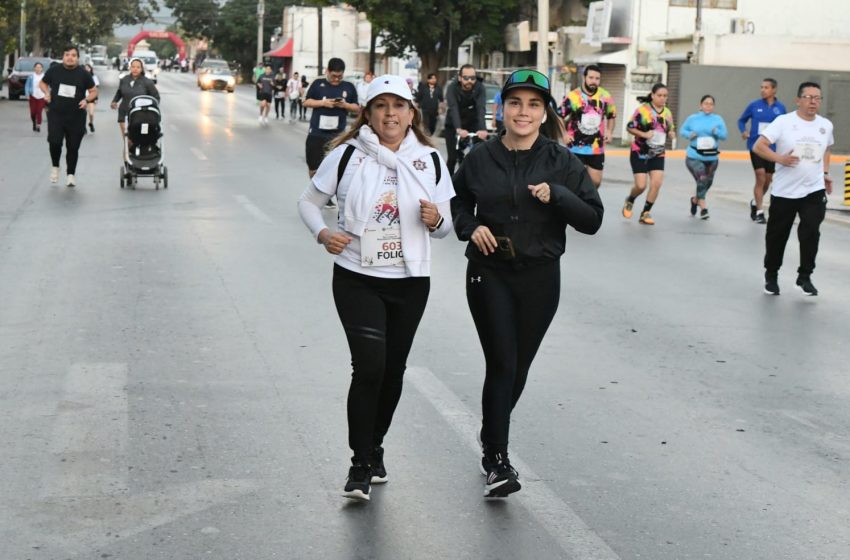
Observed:
[[[488,453],[507,453],[511,411],[560,295],[557,260],[524,270],[467,265],[466,300],[486,362],[481,440]]]

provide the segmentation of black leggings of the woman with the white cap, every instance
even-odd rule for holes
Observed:
[[[348,445],[355,461],[368,462],[390,428],[430,286],[428,277],[377,278],[334,265],[334,302],[354,370]]]

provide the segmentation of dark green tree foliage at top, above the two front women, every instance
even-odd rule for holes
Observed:
[[[415,51],[423,75],[447,62],[449,47],[469,37],[492,49],[504,44],[505,25],[516,17],[517,0],[353,0],[358,11],[380,30],[389,56]],[[451,38],[451,45],[449,41]],[[453,57],[452,57],[453,60]]]

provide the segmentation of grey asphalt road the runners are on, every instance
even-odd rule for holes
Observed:
[[[620,217],[628,163],[609,158],[605,223],[568,235],[561,307],[513,416],[523,490],[500,501],[477,470],[464,247],[435,243],[390,482],[353,504],[332,261],[295,206],[305,126],[259,126],[250,88],[165,75],[169,189],[121,190],[102,79],[75,189],[49,184],[26,104],[0,102],[3,559],[848,557],[840,212],[821,295],[792,289],[792,238],[768,297],[749,164],[723,162],[699,221],[669,162],[648,227]]]

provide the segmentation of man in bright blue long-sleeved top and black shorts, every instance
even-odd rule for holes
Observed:
[[[770,189],[770,183],[773,181],[776,164],[756,154],[753,151],[753,146],[764,129],[767,128],[767,125],[772,123],[779,115],[784,115],[787,112],[785,105],[776,99],[776,80],[765,78],[761,82],[761,99],[756,99],[747,105],[747,108],[741,114],[741,118],[738,119],[738,130],[741,131],[741,136],[747,141],[750,161],[756,174],[756,185],[753,187],[753,198],[750,200],[750,219],[758,224],[767,223],[764,218],[762,203],[764,196]],[[750,121],[749,131],[747,131],[747,121]],[[776,147],[771,146],[771,149],[776,149]]]

